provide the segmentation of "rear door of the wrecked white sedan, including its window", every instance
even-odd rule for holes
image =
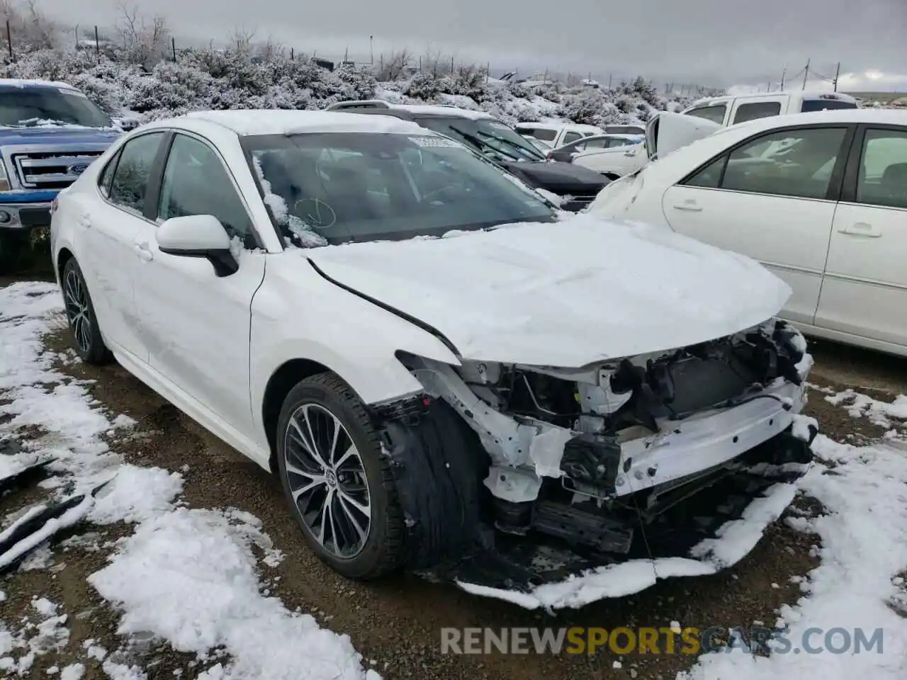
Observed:
[[[134,241],[141,228],[151,224],[145,196],[164,136],[156,131],[127,141],[102,172],[102,199],[83,203],[83,212],[75,217],[76,259],[104,339],[114,352],[140,362],[148,356],[135,308],[134,277],[141,259]]]

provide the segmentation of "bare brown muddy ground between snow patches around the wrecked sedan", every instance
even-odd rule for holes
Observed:
[[[37,278],[34,276],[32,278]],[[0,286],[5,284],[0,280]],[[63,333],[47,339],[61,351],[68,346]],[[816,365],[811,381],[835,392],[853,388],[891,401],[907,393],[907,362],[853,348],[816,342]],[[286,554],[277,568],[262,565],[262,587],[269,588],[288,608],[311,612],[322,625],[348,634],[367,664],[385,678],[493,678],[495,680],[600,680],[601,678],[673,678],[692,665],[691,656],[625,656],[607,651],[594,656],[450,656],[440,653],[442,627],[749,627],[754,621],[771,626],[775,609],[793,603],[799,586],[792,578],[814,567],[814,538],[789,529],[779,521],[756,549],[736,568],[708,578],[660,581],[636,596],[601,601],[557,617],[528,612],[493,599],[473,597],[455,588],[420,578],[395,577],[363,585],[337,576],[305,548],[290,520],[278,483],[239,453],[215,440],[175,408],[112,364],[93,368],[74,364],[63,371],[77,378],[96,380],[93,395],[114,413],[126,413],[138,422],[130,437],[112,442],[116,452],[137,464],[181,471],[185,499],[198,508],[236,507],[256,515],[275,547]],[[2,398],[2,395],[0,395]],[[884,430],[866,419],[853,419],[840,406],[813,392],[808,413],[822,432],[838,441],[865,442]],[[133,432],[133,433],[134,433]],[[40,491],[16,493],[0,499],[0,517],[36,500]],[[808,501],[800,500],[808,505]],[[130,528],[114,526],[99,531],[115,539]],[[103,541],[101,541],[103,542]],[[102,602],[86,578],[101,568],[112,547],[89,551],[78,545],[54,549],[46,568],[19,570],[0,580],[6,600],[0,618],[8,622],[34,618],[32,599],[43,596],[70,614],[68,644],[60,654],[35,658],[31,675],[47,678],[48,669],[74,662],[86,666],[86,678],[107,677],[100,661],[91,658],[88,645],[107,650],[122,648],[121,658],[140,664],[149,678],[193,677],[206,665],[153,641],[126,640],[116,635],[118,615]],[[87,643],[86,641],[93,642]],[[621,667],[615,668],[615,661]],[[176,673],[174,673],[176,672]]]

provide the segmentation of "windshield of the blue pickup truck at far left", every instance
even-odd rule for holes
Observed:
[[[0,125],[81,125],[109,128],[110,117],[82,92],[63,87],[0,87]]]

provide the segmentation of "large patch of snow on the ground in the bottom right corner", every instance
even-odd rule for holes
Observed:
[[[839,444],[819,435],[813,449],[816,464],[800,486],[821,501],[825,513],[791,524],[818,534],[821,564],[802,583],[806,594],[780,616],[787,629],[785,638],[800,648],[806,632],[821,629],[807,638],[812,646],[824,642],[824,634],[844,628],[851,639],[862,628],[866,639],[883,629],[883,649],[853,653],[795,653],[751,656],[742,650],[707,654],[678,680],[902,680],[907,658],[907,612],[903,572],[907,569],[907,450],[890,443],[866,447]],[[832,645],[840,645],[838,636]],[[827,644],[827,643],[826,643]],[[801,650],[802,651],[802,650]]]

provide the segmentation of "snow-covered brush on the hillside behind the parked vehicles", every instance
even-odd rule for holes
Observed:
[[[453,73],[378,73],[342,66],[330,72],[301,54],[272,54],[253,63],[245,49],[184,50],[176,63],[161,61],[150,72],[116,50],[23,51],[2,67],[9,78],[50,79],[81,89],[102,109],[139,121],[200,109],[317,110],[352,99],[382,98],[402,103],[448,103],[493,113],[502,121],[562,120],[603,125],[648,120],[692,100],[666,99],[637,78],[612,91],[561,83],[506,83],[465,67]],[[391,80],[386,80],[392,78]]]

